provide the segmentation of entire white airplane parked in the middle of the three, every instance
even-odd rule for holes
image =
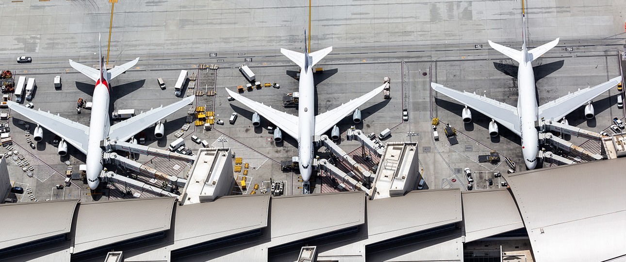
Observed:
[[[252,124],[254,126],[259,126],[260,124],[259,115],[267,118],[267,120],[277,126],[277,129],[274,131],[274,141],[282,141],[281,130],[298,141],[300,174],[302,175],[304,184],[307,184],[313,171],[311,163],[314,158],[314,136],[322,135],[334,126],[334,128],[332,128],[331,137],[332,139],[338,139],[339,128],[335,124],[349,114],[352,114],[352,119],[355,123],[361,122],[361,111],[359,111],[358,107],[381,93],[385,85],[383,84],[369,91],[369,93],[362,95],[360,98],[350,100],[335,109],[315,116],[313,112],[315,106],[315,87],[312,67],[328,53],[331,53],[332,46],[309,54],[306,48],[305,38],[304,51],[305,53],[302,54],[283,48],[280,49],[280,53],[287,56],[287,58],[291,59],[291,61],[294,61],[294,63],[302,68],[300,70],[300,84],[298,88],[300,92],[298,116],[281,112],[270,106],[265,106],[265,104],[252,101],[228,89],[226,89],[226,91],[232,98],[255,111],[252,116]]]

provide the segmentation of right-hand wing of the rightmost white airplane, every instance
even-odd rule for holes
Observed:
[[[578,107],[587,104],[588,101],[608,91],[608,89],[617,86],[620,81],[622,81],[622,77],[618,76],[593,88],[579,89],[574,93],[567,94],[567,96],[542,104],[539,107],[539,119],[545,118],[558,121]]]

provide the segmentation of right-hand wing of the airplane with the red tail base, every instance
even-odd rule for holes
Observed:
[[[178,109],[184,108],[193,102],[195,96],[188,96],[181,101],[170,104],[168,106],[160,106],[155,109],[151,109],[145,113],[138,114],[132,118],[121,121],[114,124],[109,129],[109,138],[118,139],[120,141],[126,141],[141,130],[148,128],[152,124],[166,118],[170,114],[178,111]]]

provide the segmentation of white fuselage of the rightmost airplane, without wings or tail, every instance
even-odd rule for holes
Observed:
[[[535,94],[535,74],[531,62],[520,63],[517,71],[517,110],[520,116],[521,153],[526,168],[535,169],[539,152],[538,135],[535,128],[538,106]]]

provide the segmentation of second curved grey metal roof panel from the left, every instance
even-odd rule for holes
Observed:
[[[74,252],[170,229],[176,198],[139,198],[80,204]]]

